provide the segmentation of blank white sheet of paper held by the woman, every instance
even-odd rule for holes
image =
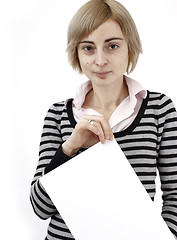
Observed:
[[[117,142],[98,143],[41,182],[76,240],[173,240]]]

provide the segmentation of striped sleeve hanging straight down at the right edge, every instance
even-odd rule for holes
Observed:
[[[160,109],[158,169],[163,192],[162,217],[177,237],[177,112],[166,96]]]

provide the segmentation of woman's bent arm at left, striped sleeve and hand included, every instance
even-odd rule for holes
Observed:
[[[61,110],[52,106],[45,118],[40,143],[39,162],[31,186],[31,203],[35,213],[42,219],[47,219],[57,213],[51,199],[45,192],[40,177],[60,166],[77,154],[83,147],[89,147],[104,139],[113,139],[112,130],[103,117],[87,116],[80,121],[74,131],[68,133],[68,139],[63,143],[60,133]],[[94,120],[91,125],[88,119]]]

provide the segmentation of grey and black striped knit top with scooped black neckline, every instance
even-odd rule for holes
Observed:
[[[74,239],[40,183],[40,177],[70,159],[62,152],[61,144],[75,125],[72,99],[67,105],[53,104],[44,121],[30,200],[40,218],[51,218],[46,240]],[[163,191],[162,216],[177,237],[177,112],[173,102],[164,94],[148,91],[132,124],[114,136],[152,200],[158,169]]]

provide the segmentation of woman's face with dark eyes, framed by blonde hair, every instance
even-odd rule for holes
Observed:
[[[119,84],[128,65],[128,46],[119,24],[107,20],[78,45],[82,72],[96,85]]]

